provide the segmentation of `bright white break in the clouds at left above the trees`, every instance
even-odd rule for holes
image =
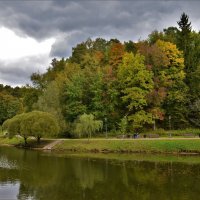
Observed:
[[[0,83],[24,85],[30,83],[33,72],[45,72],[51,58],[54,39],[38,42],[20,37],[7,28],[0,28]]]

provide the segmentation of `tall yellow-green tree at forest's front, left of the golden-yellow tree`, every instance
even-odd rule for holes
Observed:
[[[150,114],[144,109],[147,106],[147,95],[153,89],[153,74],[146,69],[144,57],[140,54],[126,53],[118,70],[118,78],[122,100],[131,113],[128,119],[133,121],[135,127],[152,123],[152,120],[149,120]]]

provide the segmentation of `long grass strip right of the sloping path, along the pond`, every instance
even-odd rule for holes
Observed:
[[[55,151],[115,152],[115,153],[198,153],[200,139],[76,139],[64,140]]]

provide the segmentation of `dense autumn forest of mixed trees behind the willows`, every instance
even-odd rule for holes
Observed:
[[[84,113],[115,133],[199,127],[200,32],[183,13],[177,27],[146,40],[88,39],[31,81],[0,85],[0,124],[38,110],[53,114],[64,136],[73,136]]]

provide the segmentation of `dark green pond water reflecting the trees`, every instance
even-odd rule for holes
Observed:
[[[199,199],[199,157],[95,157],[0,147],[0,199]]]

